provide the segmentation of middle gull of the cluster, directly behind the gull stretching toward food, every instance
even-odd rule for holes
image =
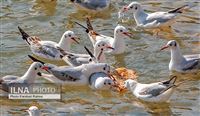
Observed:
[[[62,59],[70,66],[80,66],[82,64],[88,64],[92,61],[98,62],[98,63],[106,63],[106,57],[105,57],[104,52],[107,49],[110,49],[110,50],[114,49],[104,41],[96,42],[94,46],[94,55],[90,52],[90,50],[86,46],[84,48],[86,49],[88,54],[69,53],[60,49],[60,52],[62,53],[62,56],[63,56]]]

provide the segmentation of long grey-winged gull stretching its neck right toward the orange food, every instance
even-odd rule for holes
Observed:
[[[38,59],[29,55],[29,57],[38,61]],[[89,77],[97,72],[110,73],[110,66],[106,63],[95,63],[95,64],[82,64],[77,67],[72,66],[56,66],[54,64],[44,64],[42,68],[49,72],[49,74],[42,73],[42,77],[56,84],[66,85],[88,85]]]

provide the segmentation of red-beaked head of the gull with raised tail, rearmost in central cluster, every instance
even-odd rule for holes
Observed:
[[[118,36],[120,38],[124,38],[125,36],[131,37],[132,35],[124,26],[121,26],[121,25],[118,25],[115,28],[114,33],[115,33],[115,36]]]

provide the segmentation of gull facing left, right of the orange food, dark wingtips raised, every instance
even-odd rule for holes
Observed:
[[[124,82],[124,86],[141,100],[148,102],[166,102],[177,87],[175,85],[176,78],[174,76],[170,80],[150,84],[141,84],[135,80],[128,79]]]

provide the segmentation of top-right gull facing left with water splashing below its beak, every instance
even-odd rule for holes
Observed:
[[[166,12],[146,13],[140,3],[132,2],[123,7],[121,12],[133,13],[137,27],[157,28],[161,26],[169,26],[173,22],[172,19],[174,19],[178,14],[182,13],[182,10],[187,6],[188,5],[184,5]]]

